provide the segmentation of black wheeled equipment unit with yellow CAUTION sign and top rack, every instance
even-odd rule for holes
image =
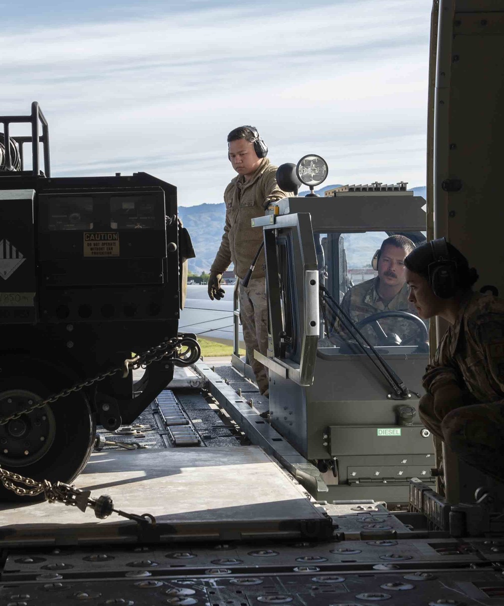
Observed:
[[[174,185],[146,173],[51,177],[48,124],[38,104],[31,110],[0,116],[0,465],[68,482],[96,422],[133,422],[171,380],[181,348],[179,364],[198,358],[195,341],[177,336],[183,261],[194,253]],[[10,136],[19,123],[31,136]],[[133,393],[125,361],[146,350]]]

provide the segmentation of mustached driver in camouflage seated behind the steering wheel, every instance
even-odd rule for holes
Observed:
[[[382,242],[376,264],[378,276],[350,288],[341,302],[343,310],[356,324],[380,311],[406,311],[416,315],[413,305],[408,302],[409,289],[404,277],[404,258],[413,248],[413,242],[401,235],[390,236]],[[419,338],[419,327],[414,321],[392,317],[378,322],[387,335],[398,335],[404,344]],[[334,330],[338,340],[349,338],[339,319]],[[373,324],[362,327],[361,332],[371,345],[384,344]]]

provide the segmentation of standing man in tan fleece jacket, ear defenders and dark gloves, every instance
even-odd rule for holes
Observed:
[[[243,278],[263,241],[263,231],[252,228],[251,219],[264,215],[264,210],[275,200],[292,196],[277,184],[277,167],[266,158],[268,148],[253,126],[235,128],[227,135],[227,157],[238,176],[224,191],[226,224],[220,248],[210,268],[208,296],[221,299],[222,274],[234,264],[239,279],[240,318],[247,356],[254,370],[262,395],[268,395],[266,368],[254,359],[254,350],[266,355],[267,351],[267,300],[264,251],[255,265],[249,285],[243,287]]]

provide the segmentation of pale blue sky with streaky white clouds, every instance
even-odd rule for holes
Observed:
[[[0,2],[1,4],[1,2]],[[53,176],[145,170],[220,202],[226,135],[328,183],[425,184],[430,0],[2,4],[1,113],[39,101]],[[21,134],[21,130],[14,134]]]

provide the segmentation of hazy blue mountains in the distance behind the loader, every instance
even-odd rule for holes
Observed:
[[[333,187],[339,186],[327,185],[316,190],[315,193],[323,196],[324,191]],[[425,186],[413,187],[412,191],[415,196],[422,196],[424,199],[427,195],[427,188]],[[307,193],[308,191],[300,191],[299,196],[304,196]],[[197,255],[195,259],[189,260],[189,270],[194,271],[198,275],[202,271],[208,272],[223,235],[224,219],[226,217],[224,202],[220,202],[220,204],[205,203],[196,206],[181,206],[178,208],[178,214],[182,219],[184,227],[188,228],[191,234],[192,244]],[[382,236],[378,234],[346,236],[345,248],[348,247],[349,268],[368,265],[377,248],[377,243],[381,242],[381,239]],[[349,254],[351,249],[355,249],[355,254],[352,256]],[[353,262],[351,259],[353,259]],[[364,261],[366,262],[364,263]]]

